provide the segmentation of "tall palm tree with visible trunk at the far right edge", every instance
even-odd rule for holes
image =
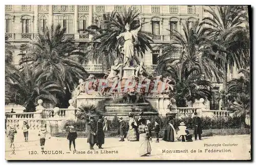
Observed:
[[[219,54],[216,58],[223,68],[223,90],[226,91],[228,66],[248,66],[249,38],[248,31],[243,26],[247,13],[241,6],[217,6],[216,10],[210,7],[209,10],[205,9],[205,12],[211,17],[205,17],[200,24],[208,25],[209,27],[204,27],[204,31],[215,38],[211,43]]]

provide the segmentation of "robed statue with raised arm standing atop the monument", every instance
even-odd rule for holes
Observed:
[[[121,33],[116,38],[119,39],[120,37],[124,38],[124,58],[123,58],[123,66],[124,67],[130,67],[133,65],[133,56],[134,56],[134,45],[138,42],[138,33],[141,30],[141,18],[140,20],[140,26],[136,30],[131,31],[130,24],[126,23],[125,25],[125,32]]]

